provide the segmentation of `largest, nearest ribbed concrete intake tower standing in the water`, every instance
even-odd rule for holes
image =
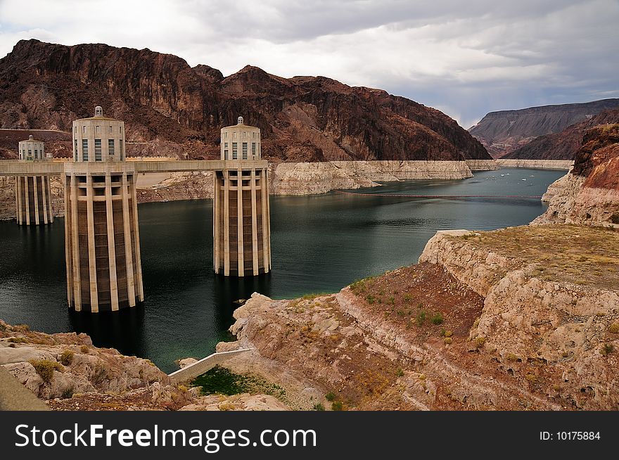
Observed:
[[[125,123],[73,122],[65,165],[65,253],[69,306],[101,312],[143,301],[136,173],[125,161]]]

